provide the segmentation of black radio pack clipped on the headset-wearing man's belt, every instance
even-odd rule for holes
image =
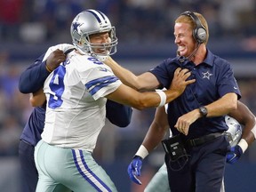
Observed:
[[[170,156],[169,165],[172,171],[180,171],[188,163],[188,154],[180,135],[162,140],[164,151]]]

